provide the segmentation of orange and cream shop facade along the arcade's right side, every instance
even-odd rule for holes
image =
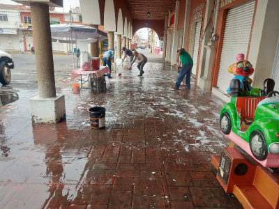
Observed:
[[[193,57],[192,75],[199,88],[225,101],[234,77],[228,72],[237,54],[245,54],[255,68],[254,88],[266,78],[276,80],[279,90],[279,1],[273,0],[181,0],[165,17],[165,53],[175,64],[176,50]]]

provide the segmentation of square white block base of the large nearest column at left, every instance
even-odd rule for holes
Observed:
[[[56,95],[56,98],[30,99],[30,112],[32,123],[59,123],[65,116],[65,97]]]

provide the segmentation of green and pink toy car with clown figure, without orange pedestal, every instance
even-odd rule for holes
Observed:
[[[279,167],[279,92],[273,91],[273,79],[266,79],[264,90],[252,88],[254,69],[243,56],[229,67],[232,79],[227,91],[231,102],[220,112],[220,128],[264,167]]]

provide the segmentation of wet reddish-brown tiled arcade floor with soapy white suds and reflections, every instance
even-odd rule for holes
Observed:
[[[121,68],[119,68],[119,72]],[[29,98],[0,108],[0,208],[242,208],[210,163],[229,141],[219,130],[223,102],[174,91],[177,72],[162,59],[107,79],[107,93],[70,89],[66,119],[32,124]],[[91,130],[90,107],[106,108],[105,130]]]

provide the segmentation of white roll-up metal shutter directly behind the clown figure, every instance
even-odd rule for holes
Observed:
[[[227,70],[230,65],[236,63],[236,55],[245,54],[246,58],[254,10],[255,1],[249,1],[227,12],[217,81],[217,87],[222,91],[227,90],[234,77]]]

